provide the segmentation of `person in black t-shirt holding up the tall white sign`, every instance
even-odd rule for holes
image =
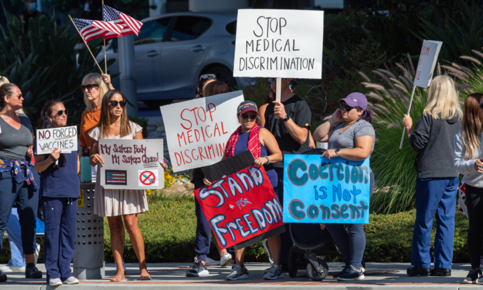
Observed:
[[[311,108],[304,99],[295,95],[290,89],[292,79],[282,79],[281,101],[272,101],[265,109],[265,128],[277,139],[282,154],[302,154],[309,148],[309,129],[311,127]],[[277,88],[276,79],[268,79],[272,90]],[[280,204],[284,204],[284,162],[273,164],[277,172],[277,187]],[[282,249],[280,252],[280,264],[286,271],[288,250],[293,246],[288,224],[285,224],[285,232],[280,235]]]

